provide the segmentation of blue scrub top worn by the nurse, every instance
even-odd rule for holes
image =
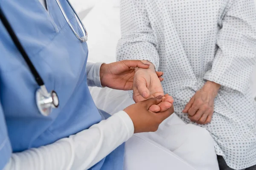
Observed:
[[[66,0],[60,0],[75,31],[82,31]],[[87,85],[87,44],[71,31],[55,0],[48,11],[38,0],[0,0],[0,6],[48,91],[59,96],[59,108],[42,116],[35,103],[39,88],[0,22],[0,169],[12,151],[51,144],[102,120]],[[122,170],[123,145],[93,170]],[[116,150],[116,151],[117,151]],[[120,154],[122,153],[122,154]],[[122,155],[122,156],[120,156]]]

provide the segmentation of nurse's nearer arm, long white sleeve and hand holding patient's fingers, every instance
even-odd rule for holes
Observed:
[[[4,170],[88,169],[133,133],[156,131],[160,123],[174,112],[173,107],[159,113],[149,111],[152,105],[162,102],[162,98],[157,96],[131,105],[125,111],[53,144],[13,153]],[[0,156],[9,159],[7,154]]]

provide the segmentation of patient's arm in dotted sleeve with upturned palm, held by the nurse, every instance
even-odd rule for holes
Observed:
[[[133,84],[134,101],[140,102],[150,97],[163,96],[161,82],[155,74],[159,68],[158,42],[151,28],[145,2],[121,0],[120,18],[122,38],[117,45],[117,60],[139,59],[150,65],[147,70],[136,68]],[[169,104],[164,105],[161,110],[168,106]]]

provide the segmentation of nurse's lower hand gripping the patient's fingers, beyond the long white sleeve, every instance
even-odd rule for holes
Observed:
[[[154,113],[149,110],[151,106],[158,105],[160,102],[162,102],[162,96],[157,96],[125,108],[124,111],[134,123],[134,133],[155,132],[160,123],[174,113],[173,106],[163,112]]]

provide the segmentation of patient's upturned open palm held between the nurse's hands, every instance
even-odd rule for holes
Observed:
[[[159,95],[164,96],[163,88],[158,78],[154,65],[151,62],[143,61],[150,64],[148,69],[136,69],[133,84],[133,99],[135,102],[141,102],[148,98],[154,98]],[[163,97],[163,101],[157,106],[154,105],[150,108],[151,111],[166,111],[172,107],[173,99],[167,95]]]

